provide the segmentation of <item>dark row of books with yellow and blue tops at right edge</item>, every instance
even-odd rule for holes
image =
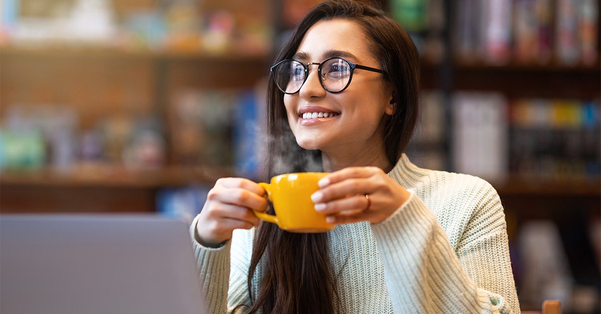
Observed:
[[[599,179],[599,102],[515,99],[510,108],[511,173],[531,179]]]

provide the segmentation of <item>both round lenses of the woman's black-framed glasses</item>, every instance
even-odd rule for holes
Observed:
[[[349,84],[350,64],[340,58],[332,58],[321,66],[320,82],[326,90],[336,93]],[[305,82],[305,65],[299,61],[289,60],[276,69],[275,78],[278,87],[285,93],[296,93]]]

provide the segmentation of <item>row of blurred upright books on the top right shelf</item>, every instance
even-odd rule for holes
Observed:
[[[465,63],[599,63],[599,1],[459,0],[451,31]]]

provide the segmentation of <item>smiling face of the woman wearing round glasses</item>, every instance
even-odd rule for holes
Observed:
[[[293,58],[308,64],[341,57],[382,69],[368,50],[369,45],[357,23],[344,19],[322,20],[307,31]],[[329,93],[319,82],[317,67],[309,66],[307,81],[299,93],[284,95],[288,123],[299,146],[335,153],[340,149],[382,145],[380,123],[385,114],[392,114],[391,84],[380,73],[355,69],[346,90]],[[328,117],[304,119],[304,112],[328,112]]]

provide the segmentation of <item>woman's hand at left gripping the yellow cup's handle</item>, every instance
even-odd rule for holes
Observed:
[[[217,180],[207,194],[207,202],[198,217],[198,240],[207,247],[218,247],[231,239],[234,229],[257,227],[260,219],[253,213],[264,212],[265,190],[257,183],[239,177]]]

